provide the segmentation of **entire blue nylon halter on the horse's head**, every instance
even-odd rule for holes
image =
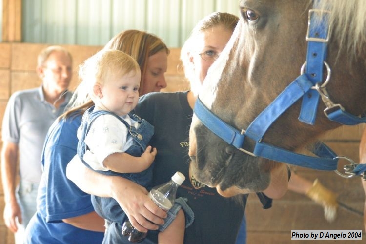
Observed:
[[[314,17],[317,14],[321,21]],[[354,175],[361,175],[366,171],[366,167],[361,167],[351,162],[351,169],[343,175],[338,172],[337,165],[339,158],[323,142],[316,142],[312,148],[312,153],[318,157],[307,156],[288,151],[273,145],[262,142],[264,133],[292,104],[302,98],[302,107],[299,120],[308,124],[314,124],[318,108],[319,98],[325,102],[325,115],[329,120],[346,124],[355,125],[366,122],[365,117],[357,117],[347,113],[339,104],[334,104],[325,89],[325,85],[330,78],[330,68],[325,62],[327,42],[329,39],[328,11],[317,9],[309,10],[308,30],[306,40],[308,41],[306,62],[302,67],[302,74],[292,81],[285,90],[270,103],[261,114],[248,126],[246,130],[238,130],[218,116],[213,114],[200,100],[197,99],[194,107],[195,115],[200,121],[214,134],[220,137],[229,145],[254,157],[263,157],[269,160],[289,163],[307,168],[336,171],[339,175],[349,178]],[[317,22],[316,22],[317,21]],[[327,67],[327,79],[322,84],[323,65]],[[305,72],[304,72],[304,68]],[[246,138],[255,142],[252,152],[244,149]],[[355,170],[357,168],[357,170]]]

